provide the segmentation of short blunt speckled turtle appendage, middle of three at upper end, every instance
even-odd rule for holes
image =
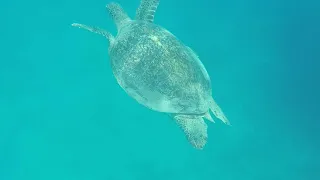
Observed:
[[[122,9],[120,4],[118,3],[112,2],[107,4],[107,10],[113,21],[116,23],[118,31],[124,24],[128,23],[131,20],[128,14]]]

